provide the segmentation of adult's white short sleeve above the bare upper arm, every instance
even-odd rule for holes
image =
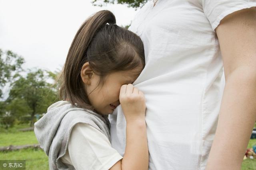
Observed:
[[[256,6],[256,0],[201,0],[201,2],[204,14],[213,30],[228,14]]]

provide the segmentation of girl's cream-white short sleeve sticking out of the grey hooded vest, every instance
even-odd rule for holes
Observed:
[[[122,156],[103,133],[86,123],[78,123],[71,131],[68,151],[61,159],[76,170],[108,170]]]

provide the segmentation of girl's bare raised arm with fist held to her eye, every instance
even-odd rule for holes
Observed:
[[[147,170],[148,144],[146,135],[144,94],[132,84],[123,85],[119,97],[126,118],[124,157],[110,170]]]

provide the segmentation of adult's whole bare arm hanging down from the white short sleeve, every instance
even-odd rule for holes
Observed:
[[[226,16],[216,33],[226,85],[206,169],[240,170],[256,120],[255,7]]]

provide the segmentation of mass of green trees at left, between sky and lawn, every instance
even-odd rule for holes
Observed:
[[[47,108],[58,99],[58,84],[52,84],[57,72],[42,69],[22,68],[24,59],[12,51],[3,52],[0,49],[0,98],[2,88],[9,86],[9,96],[0,101],[0,122],[4,127],[10,127],[16,122],[28,121],[34,124],[35,114],[46,113]],[[24,72],[24,74],[20,74]],[[5,95],[6,96],[6,95]]]

